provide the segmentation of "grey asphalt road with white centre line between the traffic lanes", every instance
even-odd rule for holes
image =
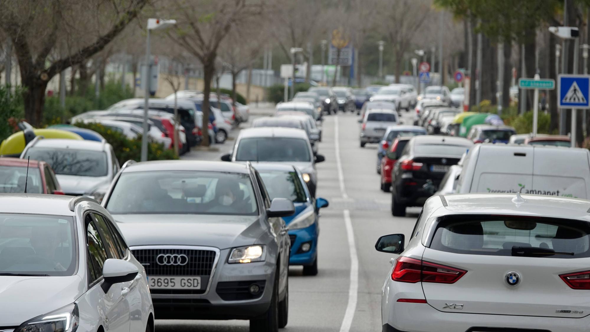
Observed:
[[[412,113],[402,112],[404,123],[411,124]],[[381,288],[392,255],[375,251],[374,245],[381,235],[409,236],[419,208],[408,208],[405,218],[391,215],[391,194],[379,189],[377,145],[359,146],[358,119],[350,113],[324,117],[319,153],[326,161],[317,164],[317,196],[330,206],[320,218],[319,274],[303,277],[302,268],[290,268],[289,324],[283,331],[381,331]],[[216,144],[218,151],[191,152],[184,158],[219,160],[233,143],[228,140]],[[156,320],[156,328],[247,332],[248,321]]]

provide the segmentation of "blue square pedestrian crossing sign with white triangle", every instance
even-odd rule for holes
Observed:
[[[559,75],[558,107],[590,109],[590,75]]]

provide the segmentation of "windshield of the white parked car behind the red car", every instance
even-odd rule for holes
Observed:
[[[106,176],[107,155],[102,151],[31,147],[25,154],[31,159],[48,163],[55,174],[77,176]]]

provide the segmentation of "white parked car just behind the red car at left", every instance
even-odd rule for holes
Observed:
[[[51,166],[65,195],[83,195],[100,184],[110,183],[119,172],[113,147],[106,142],[38,137],[21,154],[21,159],[28,157]]]

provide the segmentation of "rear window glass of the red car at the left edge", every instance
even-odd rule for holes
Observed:
[[[29,179],[27,180],[27,167],[0,166],[0,192],[25,192],[43,193],[41,171],[37,167],[29,167]]]

